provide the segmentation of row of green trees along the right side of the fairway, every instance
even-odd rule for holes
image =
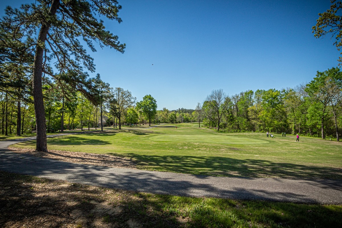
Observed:
[[[204,123],[219,131],[286,132],[339,140],[341,105],[342,73],[332,68],[318,71],[311,82],[296,88],[248,90],[231,97],[213,90],[201,112]]]

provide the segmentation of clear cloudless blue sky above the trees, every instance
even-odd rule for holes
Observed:
[[[217,89],[232,96],[294,88],[338,66],[333,40],[316,39],[311,29],[329,0],[118,1],[122,23],[105,26],[126,51],[89,52],[90,75],[100,73],[138,101],[152,95],[158,110],[194,109]],[[1,0],[1,15],[7,4],[30,1],[12,2]]]

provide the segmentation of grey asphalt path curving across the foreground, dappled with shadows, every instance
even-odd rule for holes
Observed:
[[[50,136],[51,137],[51,136]],[[0,170],[99,187],[175,196],[342,204],[342,180],[235,178],[63,162],[7,149],[35,137],[0,141]]]

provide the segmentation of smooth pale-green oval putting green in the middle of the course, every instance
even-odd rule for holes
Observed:
[[[156,135],[149,139],[166,142],[198,142],[224,144],[263,144],[266,140],[227,135]]]

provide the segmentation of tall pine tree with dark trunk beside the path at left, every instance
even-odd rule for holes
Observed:
[[[95,51],[93,41],[96,41],[101,47],[109,46],[123,53],[125,44],[121,44],[117,36],[105,30],[103,21],[98,19],[105,16],[120,23],[120,9],[121,6],[115,0],[37,0],[35,3],[22,5],[20,9],[12,9],[10,6],[6,8],[6,16],[1,24],[11,25],[7,33],[22,32],[24,43],[35,47],[33,95],[37,150],[47,151],[42,74],[55,78],[50,66],[55,62],[55,68],[59,71],[57,74],[75,72],[70,78],[61,79],[76,82],[77,89],[89,97],[89,90],[93,86],[90,86],[83,67],[92,72],[95,67],[79,38],[92,51]]]

